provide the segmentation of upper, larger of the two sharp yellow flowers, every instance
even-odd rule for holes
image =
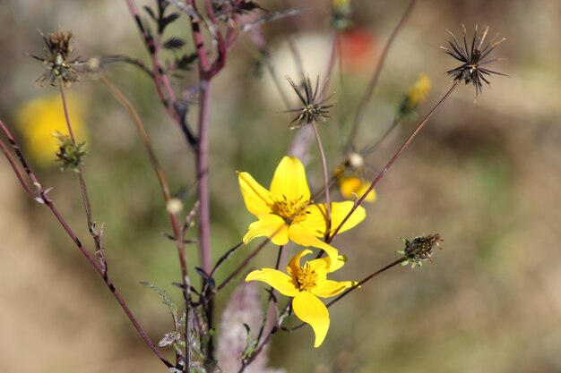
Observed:
[[[250,174],[238,173],[238,180],[247,210],[258,218],[249,225],[245,243],[262,236],[269,237],[275,245],[293,241],[325,250],[332,259],[332,270],[342,267],[344,259],[337,249],[318,238],[324,237],[327,231],[326,205],[314,204],[310,199],[304,165],[298,158],[282,158],[272,177],[270,191],[255,182]],[[351,201],[332,202],[332,229],[341,224],[352,207]],[[339,232],[358,225],[365,216],[365,209],[358,207]]]

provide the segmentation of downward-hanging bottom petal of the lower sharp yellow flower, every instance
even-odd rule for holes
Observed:
[[[319,347],[329,329],[329,311],[324,303],[311,292],[298,292],[292,300],[296,316],[314,329],[314,347]]]

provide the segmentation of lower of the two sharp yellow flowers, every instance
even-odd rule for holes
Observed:
[[[328,258],[306,261],[300,266],[300,258],[311,254],[312,250],[302,250],[290,259],[286,275],[276,269],[263,268],[246,276],[246,282],[262,281],[271,285],[282,295],[294,298],[292,309],[296,316],[314,329],[314,347],[319,347],[329,329],[329,311],[317,297],[327,298],[350,288],[352,281],[332,281],[327,274],[332,272]]]

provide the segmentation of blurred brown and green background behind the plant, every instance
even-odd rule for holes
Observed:
[[[329,88],[332,119],[321,126],[332,167],[341,162],[341,139],[407,4],[352,3],[354,27],[342,38],[341,61]],[[287,93],[283,77],[298,79],[287,40],[314,80],[325,72],[332,35],[328,1],[263,1],[272,11],[295,5],[313,11],[263,28]],[[334,305],[320,349],[312,347],[307,326],[281,333],[272,344],[270,366],[317,373],[561,372],[561,3],[419,1],[387,57],[358,146],[384,132],[410,85],[426,73],[432,88],[418,115],[367,158],[373,173],[385,165],[449,89],[444,72],[458,64],[439,47],[450,38],[445,30],[459,35],[462,23],[469,34],[475,24],[489,25],[489,36],[506,38],[493,53],[505,60],[489,68],[509,77],[494,77],[477,102],[473,87],[453,92],[379,184],[378,199],[367,205],[367,220],[335,241],[350,258],[335,277],[358,280],[384,267],[398,258],[401,237],[440,233],[444,250],[420,269],[394,267]],[[24,53],[42,56],[38,30],[64,26],[73,30],[76,57],[120,54],[147,61],[134,20],[125,1],[2,0],[0,25],[0,118],[16,132],[44,185],[54,188],[52,199],[91,246],[75,175],[60,173],[51,156],[37,148],[40,140],[30,135],[39,130],[25,118],[38,123],[42,115],[56,115],[41,107],[56,100],[57,89],[34,84],[42,66]],[[184,35],[187,29],[182,19],[168,32]],[[239,242],[254,220],[237,189],[236,170],[268,185],[296,133],[289,131],[291,117],[283,113],[286,107],[260,62],[252,39],[242,38],[213,83],[215,259]],[[160,106],[151,81],[125,65],[105,73],[142,115],[172,190],[188,206],[193,154]],[[193,81],[194,73],[187,73],[177,87]],[[85,178],[94,218],[104,223],[110,274],[142,325],[159,340],[171,329],[168,310],[139,282],[156,284],[178,301],[180,292],[171,283],[180,272],[173,242],[161,235],[169,228],[157,180],[134,123],[96,76],[82,77],[67,95],[73,121],[87,141]],[[196,115],[192,108],[190,123]],[[317,189],[320,162],[315,144],[310,149],[307,175]],[[332,196],[341,198],[337,191]],[[219,281],[252,248],[230,259]],[[252,267],[271,267],[275,252],[263,250]],[[47,209],[25,195],[5,161],[0,161],[0,255],[0,371],[165,371]],[[189,256],[193,267],[194,248]],[[235,285],[220,296],[217,319]]]

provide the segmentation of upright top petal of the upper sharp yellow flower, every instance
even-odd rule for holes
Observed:
[[[272,176],[272,195],[289,200],[310,199],[310,188],[307,185],[304,165],[297,157],[283,157]]]

